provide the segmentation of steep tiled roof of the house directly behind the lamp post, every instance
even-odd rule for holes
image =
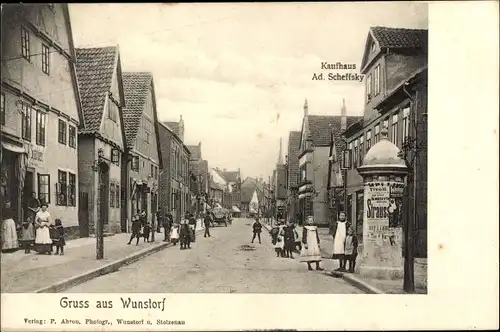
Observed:
[[[97,133],[101,127],[106,95],[111,90],[118,47],[77,48],[75,53],[85,120],[85,128],[81,132]]]

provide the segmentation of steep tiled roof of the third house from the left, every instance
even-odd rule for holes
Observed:
[[[151,73],[123,73],[123,88],[125,90],[123,121],[125,122],[125,134],[129,147],[133,147],[135,144],[152,80],[153,74]]]

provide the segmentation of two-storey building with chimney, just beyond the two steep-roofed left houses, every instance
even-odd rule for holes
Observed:
[[[180,221],[191,206],[189,159],[191,152],[184,144],[184,120],[160,122],[160,147],[163,172],[160,175],[160,204]]]

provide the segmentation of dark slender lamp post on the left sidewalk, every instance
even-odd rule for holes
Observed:
[[[103,173],[107,172],[109,169],[109,166],[107,165],[107,162],[110,162],[109,159],[104,157],[104,150],[102,148],[97,150],[97,159],[94,160],[94,164],[92,165],[92,170],[98,174],[98,187],[97,187],[97,198],[98,198],[98,215],[96,218],[96,225],[95,225],[95,237],[96,237],[96,259],[103,259],[104,258],[104,220],[102,220],[103,217],[103,211],[101,209],[105,208],[104,204],[102,203],[102,200],[104,199],[103,195],[105,194],[103,192],[105,183],[101,181],[101,176]]]

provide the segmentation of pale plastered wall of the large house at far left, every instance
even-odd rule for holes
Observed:
[[[28,171],[34,175],[33,188],[27,188],[28,191],[39,194],[37,174],[50,175],[49,211],[54,218],[60,218],[68,232],[72,233],[78,228],[78,197],[74,198],[74,206],[55,204],[59,170],[76,176],[75,190],[78,193],[78,142],[76,147],[58,142],[59,119],[75,128],[80,119],[72,76],[74,71],[68,59],[71,55],[60,53],[53,46],[70,49],[69,40],[72,37],[66,29],[65,6],[54,4],[53,10],[48,5],[11,5],[3,8],[1,72],[6,123],[1,131],[24,142],[28,152]],[[29,32],[29,60],[21,56],[22,26]],[[48,73],[42,71],[42,43],[49,46]],[[33,109],[31,137],[24,140],[21,137],[21,103]],[[44,146],[37,144],[35,139],[35,110],[46,114]],[[19,201],[19,207],[20,204]]]

